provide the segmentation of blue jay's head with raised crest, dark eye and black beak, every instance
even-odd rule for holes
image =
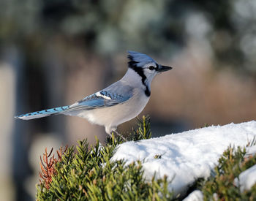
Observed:
[[[135,70],[135,72],[142,77],[144,83],[146,80],[151,83],[151,80],[153,80],[157,74],[172,69],[172,67],[157,64],[153,58],[146,54],[134,51],[128,51],[128,53],[128,67]]]

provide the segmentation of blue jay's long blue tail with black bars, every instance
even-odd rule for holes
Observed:
[[[41,110],[34,113],[27,113],[24,115],[17,115],[15,118],[20,118],[23,120],[29,120],[33,118],[42,118],[49,115],[58,115],[59,113],[63,113],[65,110],[69,109],[69,106],[55,107],[48,110]]]

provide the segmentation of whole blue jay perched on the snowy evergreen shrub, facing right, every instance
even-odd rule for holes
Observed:
[[[143,53],[128,51],[128,70],[121,80],[86,96],[73,105],[41,110],[15,116],[23,120],[42,118],[49,115],[73,115],[86,118],[92,124],[105,126],[111,135],[119,124],[135,118],[148,103],[151,81],[172,67],[157,64],[153,58]]]

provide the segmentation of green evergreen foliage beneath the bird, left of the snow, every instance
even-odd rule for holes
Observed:
[[[149,137],[149,118],[143,116],[129,139]],[[97,140],[89,148],[87,140],[82,140],[76,151],[73,146],[67,148],[54,165],[56,174],[51,182],[37,185],[37,200],[172,200],[166,176],[146,181],[141,162],[125,165],[123,160],[111,161],[114,148],[122,142],[121,137],[112,135],[104,146]]]

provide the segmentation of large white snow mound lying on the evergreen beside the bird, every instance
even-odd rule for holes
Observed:
[[[118,145],[112,160],[143,162],[146,179],[167,175],[169,189],[187,190],[197,178],[207,178],[229,145],[245,146],[256,135],[256,121],[209,126],[164,137]]]

